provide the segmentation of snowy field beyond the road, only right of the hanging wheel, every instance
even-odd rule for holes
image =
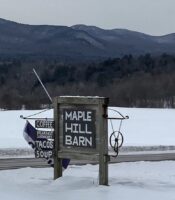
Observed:
[[[175,109],[116,109],[129,116],[128,120],[123,121],[122,126],[124,145],[175,145]]]

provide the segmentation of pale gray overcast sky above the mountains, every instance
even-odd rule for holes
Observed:
[[[175,32],[175,0],[0,0],[0,18],[26,24],[86,24],[163,35]]]

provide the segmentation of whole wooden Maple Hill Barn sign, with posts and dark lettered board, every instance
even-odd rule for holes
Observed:
[[[62,176],[61,160],[99,161],[99,184],[108,185],[108,98],[54,99],[54,179]]]

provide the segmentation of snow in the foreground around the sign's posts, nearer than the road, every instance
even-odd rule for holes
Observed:
[[[0,171],[2,200],[174,200],[175,162],[109,165],[109,186],[98,185],[98,165],[69,166],[53,181],[53,169]]]

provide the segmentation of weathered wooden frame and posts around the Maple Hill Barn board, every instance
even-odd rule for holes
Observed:
[[[62,176],[63,158],[99,161],[99,184],[108,185],[108,123],[107,107],[109,99],[105,97],[60,96],[54,98],[54,179]],[[63,111],[93,111],[92,123],[95,124],[95,146],[63,145]],[[89,114],[90,115],[90,114]],[[83,122],[84,123],[84,122]]]

